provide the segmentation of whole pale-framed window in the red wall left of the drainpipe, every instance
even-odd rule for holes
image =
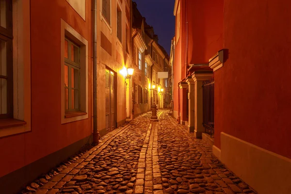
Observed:
[[[63,19],[61,29],[60,105],[65,124],[88,118],[88,41]]]

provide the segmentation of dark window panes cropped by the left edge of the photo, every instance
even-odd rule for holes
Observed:
[[[12,0],[0,0],[0,119],[13,118]]]

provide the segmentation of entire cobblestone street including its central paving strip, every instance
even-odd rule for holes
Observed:
[[[167,113],[158,112],[159,122],[149,122],[146,113],[109,132],[98,146],[63,162],[21,193],[255,193]]]

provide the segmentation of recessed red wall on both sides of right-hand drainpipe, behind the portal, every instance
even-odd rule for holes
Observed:
[[[188,54],[187,64],[190,65],[206,64],[217,51],[223,49],[223,0],[180,0],[180,3],[181,32],[175,48],[174,64],[175,111],[178,111],[176,87],[178,87],[178,81],[186,76],[185,50]],[[186,30],[186,14],[188,30]],[[188,48],[186,48],[186,42],[188,42]],[[187,108],[186,102],[181,104],[180,110],[182,108]]]

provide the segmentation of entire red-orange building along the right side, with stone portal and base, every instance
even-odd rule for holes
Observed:
[[[262,194],[291,192],[287,7],[275,0],[176,0],[174,11],[174,116]],[[210,82],[214,138],[204,128]]]

